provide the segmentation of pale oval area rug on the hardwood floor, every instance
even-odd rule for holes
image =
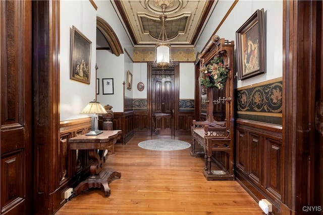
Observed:
[[[155,151],[184,150],[191,147],[188,142],[177,139],[149,139],[139,142],[138,146],[142,149]]]

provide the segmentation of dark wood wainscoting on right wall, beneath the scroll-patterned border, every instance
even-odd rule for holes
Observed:
[[[282,202],[282,126],[236,119],[236,179],[256,201]],[[275,213],[276,214],[276,213]]]

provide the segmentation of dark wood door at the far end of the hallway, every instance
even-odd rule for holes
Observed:
[[[152,68],[152,135],[174,135],[175,73],[174,67]]]

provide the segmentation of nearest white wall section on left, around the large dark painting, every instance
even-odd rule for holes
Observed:
[[[79,113],[95,99],[96,11],[89,1],[61,1],[60,13],[60,120],[63,121],[88,117]],[[92,42],[90,85],[70,79],[73,25]]]

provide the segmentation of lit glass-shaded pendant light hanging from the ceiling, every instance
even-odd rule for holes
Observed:
[[[159,16],[159,19],[163,22],[163,26],[161,27],[161,31],[158,37],[158,43],[155,45],[155,61],[153,64],[157,68],[165,69],[173,64],[171,60],[171,44],[165,42],[165,40],[168,40],[165,30],[165,20],[167,19],[165,11],[168,7],[168,4],[163,3],[160,5],[160,7],[163,10],[163,14]]]

